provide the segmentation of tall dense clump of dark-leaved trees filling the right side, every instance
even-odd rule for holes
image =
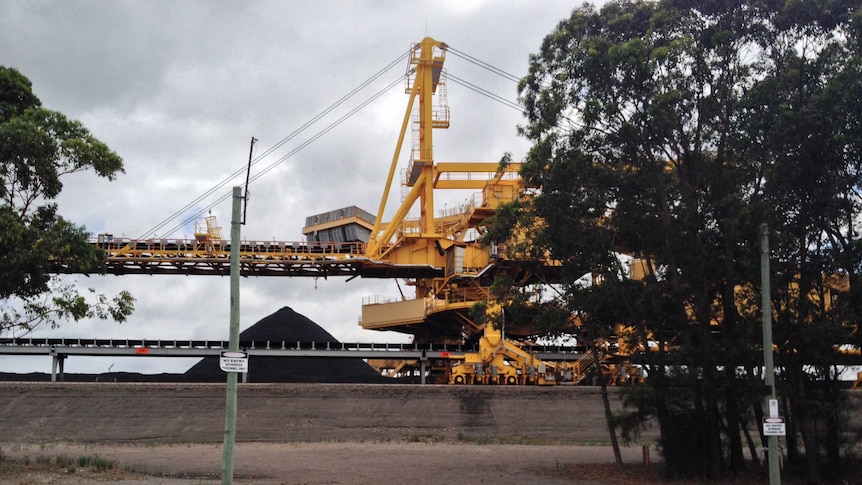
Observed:
[[[560,303],[591,338],[616,321],[642,350],[631,417],[656,419],[671,476],[742,469],[743,436],[756,459],[764,222],[806,450],[791,458],[813,479],[840,469],[814,430],[838,436],[835,346],[858,341],[860,19],[832,0],[618,0],[575,9],[531,56],[521,175],[537,195],[509,222],[542,221],[528,233],[568,268]],[[577,284],[584,268],[601,285]]]

